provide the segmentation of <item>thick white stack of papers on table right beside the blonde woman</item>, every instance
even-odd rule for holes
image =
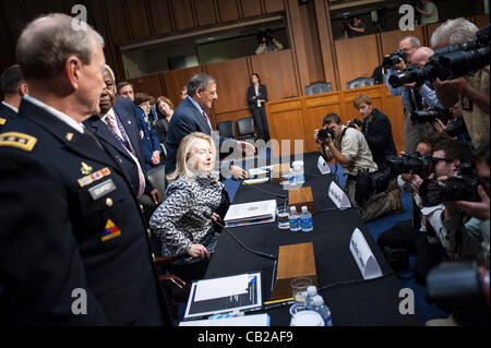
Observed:
[[[225,215],[227,227],[263,224],[274,221],[276,217],[276,200],[232,204]]]

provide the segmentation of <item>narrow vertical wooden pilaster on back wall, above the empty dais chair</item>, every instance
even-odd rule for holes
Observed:
[[[331,15],[324,0],[315,0],[315,15],[322,64],[324,67],[324,82],[331,82],[333,91],[338,91],[340,89],[339,74],[337,72],[335,45],[331,28]]]

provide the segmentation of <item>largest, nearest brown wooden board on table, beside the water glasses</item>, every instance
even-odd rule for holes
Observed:
[[[290,298],[292,296],[290,283],[298,277],[309,277],[318,286],[312,242],[279,247],[278,266],[271,299]]]

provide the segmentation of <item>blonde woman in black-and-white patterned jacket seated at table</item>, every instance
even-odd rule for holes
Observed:
[[[191,283],[204,276],[218,235],[213,219],[221,202],[224,184],[215,167],[216,148],[211,136],[194,132],[182,139],[176,171],[167,176],[166,200],[149,225],[163,241],[164,256],[182,255],[170,272]]]

